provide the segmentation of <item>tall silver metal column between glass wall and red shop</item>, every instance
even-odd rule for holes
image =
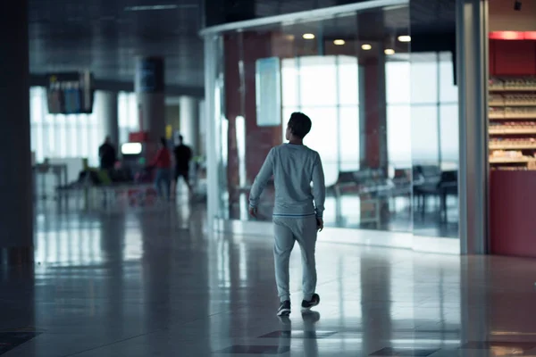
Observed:
[[[456,0],[459,95],[460,243],[465,254],[487,253],[488,1]]]

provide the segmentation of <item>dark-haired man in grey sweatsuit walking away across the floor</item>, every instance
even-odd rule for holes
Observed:
[[[325,184],[320,155],[304,145],[304,137],[311,131],[311,126],[306,114],[292,113],[286,132],[289,143],[272,148],[249,194],[249,214],[256,217],[261,193],[273,176],[273,257],[281,303],[278,316],[290,314],[289,258],[295,241],[302,255],[302,311],[308,311],[320,303],[320,296],[315,293],[314,248],[317,232],[323,228]]]

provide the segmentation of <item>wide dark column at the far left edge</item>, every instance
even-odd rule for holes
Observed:
[[[33,261],[28,0],[0,12],[0,265]]]

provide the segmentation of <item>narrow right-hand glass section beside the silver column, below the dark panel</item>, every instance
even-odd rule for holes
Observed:
[[[452,54],[411,57],[414,233],[457,237],[459,134]]]

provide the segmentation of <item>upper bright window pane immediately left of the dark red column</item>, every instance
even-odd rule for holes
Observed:
[[[351,56],[339,56],[338,62],[339,104],[357,105],[359,103],[357,58]]]

